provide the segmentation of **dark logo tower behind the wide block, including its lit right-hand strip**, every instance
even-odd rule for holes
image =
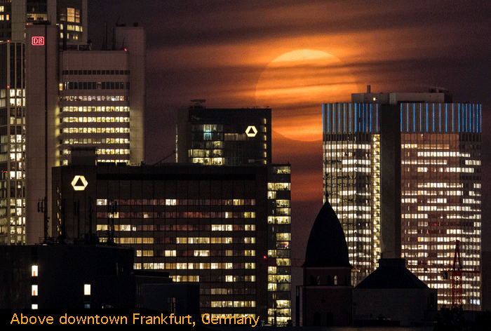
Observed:
[[[179,110],[177,162],[269,165],[267,193],[267,323],[291,319],[290,165],[271,164],[271,109],[208,109],[204,100]],[[265,197],[266,198],[266,197]]]

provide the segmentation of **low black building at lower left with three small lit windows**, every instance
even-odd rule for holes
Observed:
[[[0,309],[152,309],[199,318],[199,286],[135,271],[135,251],[78,241],[0,246]],[[158,298],[158,299],[156,299]]]

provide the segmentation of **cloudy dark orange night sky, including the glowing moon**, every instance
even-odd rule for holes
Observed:
[[[190,100],[271,107],[273,162],[292,165],[297,264],[322,205],[323,102],[350,101],[370,85],[372,93],[445,88],[454,102],[483,104],[483,250],[491,250],[488,0],[88,0],[94,49],[104,22],[116,21],[147,34],[147,163],[175,149],[177,109]]]

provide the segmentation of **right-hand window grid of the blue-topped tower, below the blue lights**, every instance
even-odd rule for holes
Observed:
[[[402,255],[438,305],[452,305],[453,259],[460,242],[463,309],[480,310],[480,142],[468,133],[401,137]]]

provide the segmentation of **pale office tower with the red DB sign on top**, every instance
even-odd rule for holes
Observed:
[[[144,161],[144,32],[113,31],[112,50],[77,50],[60,46],[55,25],[26,29],[27,243],[49,236],[51,167],[69,164],[72,147],[95,148],[99,162]]]

